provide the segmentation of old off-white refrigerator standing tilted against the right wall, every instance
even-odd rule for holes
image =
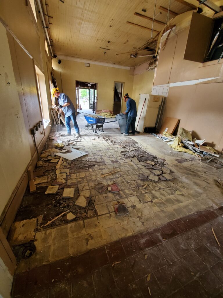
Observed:
[[[136,118],[136,130],[144,132],[147,127],[155,127],[159,106],[164,96],[140,94]]]

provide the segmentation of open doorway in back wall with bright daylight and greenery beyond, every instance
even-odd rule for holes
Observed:
[[[77,107],[82,110],[96,111],[97,83],[76,81]]]

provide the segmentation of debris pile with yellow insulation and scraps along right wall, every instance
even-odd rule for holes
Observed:
[[[214,148],[207,145],[203,145],[205,143],[205,139],[192,139],[191,132],[187,131],[183,127],[180,128],[179,135],[177,136],[173,136],[172,134],[167,133],[166,131],[164,131],[162,135],[153,135],[156,136],[156,138],[163,140],[175,151],[186,152],[201,157],[207,156],[213,158],[220,156],[219,154],[217,154],[218,152]]]

